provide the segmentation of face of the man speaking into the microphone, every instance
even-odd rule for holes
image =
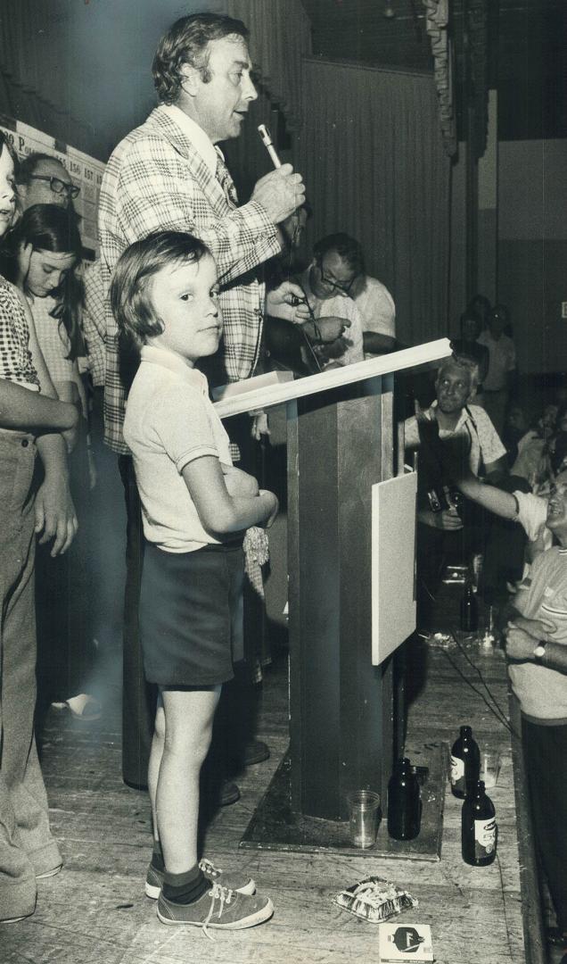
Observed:
[[[193,119],[217,144],[239,136],[248,106],[258,94],[250,80],[248,48],[238,34],[210,41],[208,67],[209,83],[191,70],[188,90],[193,93]]]

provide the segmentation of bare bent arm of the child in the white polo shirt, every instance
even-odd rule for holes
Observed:
[[[271,525],[277,514],[277,498],[259,490],[258,495],[229,495],[219,459],[203,455],[182,469],[199,520],[211,533],[242,532],[251,525]]]

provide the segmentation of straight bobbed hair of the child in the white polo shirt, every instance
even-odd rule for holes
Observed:
[[[149,282],[163,268],[200,261],[211,254],[193,234],[156,231],[135,241],[116,264],[111,284],[111,308],[118,326],[120,354],[139,356],[148,337],[165,331],[164,320],[151,304]]]

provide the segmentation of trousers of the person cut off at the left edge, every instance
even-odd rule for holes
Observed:
[[[0,921],[31,914],[36,874],[61,864],[34,736],[36,445],[0,431]]]

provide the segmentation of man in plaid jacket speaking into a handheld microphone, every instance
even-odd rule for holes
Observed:
[[[152,231],[186,230],[211,249],[222,285],[223,344],[214,384],[253,374],[264,314],[257,267],[278,254],[278,224],[304,201],[299,174],[289,164],[262,177],[248,203],[238,206],[219,141],[238,137],[257,97],[250,79],[248,32],[240,20],[196,13],[177,20],[159,43],[153,64],[160,105],[113,152],[99,201],[100,265],[108,292],[116,261]],[[151,735],[145,713],[138,641],[142,539],[131,458],[122,436],[124,387],[116,322],[106,306],[105,441],[120,454],[128,506],[128,576],[124,627],[123,776],[145,783]],[[208,374],[211,375],[210,372]]]

